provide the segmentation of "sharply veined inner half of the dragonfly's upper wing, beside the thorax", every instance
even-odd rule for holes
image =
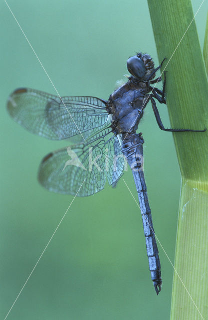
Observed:
[[[59,136],[59,139],[84,133],[88,137],[94,128],[103,127],[107,121],[103,100],[93,96],[63,96],[57,102],[51,100],[46,106],[46,118],[49,126]],[[86,133],[89,131],[89,133]]]

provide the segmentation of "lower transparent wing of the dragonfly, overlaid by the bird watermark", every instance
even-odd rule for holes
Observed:
[[[47,154],[39,167],[40,183],[50,191],[76,194],[96,193],[106,178],[114,185],[124,168],[124,156],[117,139],[106,127],[84,143],[74,144]]]

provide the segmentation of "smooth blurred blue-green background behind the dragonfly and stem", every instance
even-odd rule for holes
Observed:
[[[61,95],[107,99],[116,80],[127,73],[126,59],[135,51],[150,53],[159,64],[146,0],[8,4]],[[200,4],[193,1],[194,12]],[[206,1],[196,17],[202,45],[207,8]],[[73,197],[48,192],[36,178],[41,158],[66,141],[32,135],[6,112],[7,96],[16,87],[53,94],[55,90],[3,1],[0,20],[0,317],[4,318]],[[169,126],[166,107],[161,105],[160,111]],[[155,231],[174,261],[180,172],[173,137],[158,128],[151,105],[140,131]],[[123,177],[137,198],[131,171]],[[140,211],[122,179],[114,189],[106,184],[96,195],[75,198],[7,318],[168,319],[173,267],[160,245],[159,251],[163,287],[157,296]]]

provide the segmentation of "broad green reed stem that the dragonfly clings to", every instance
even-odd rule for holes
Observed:
[[[171,125],[208,127],[208,81],[191,1],[148,0],[148,4],[159,60],[171,58],[166,67]],[[173,136],[182,186],[171,320],[207,319],[208,130]]]

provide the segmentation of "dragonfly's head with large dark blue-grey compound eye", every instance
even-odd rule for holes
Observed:
[[[149,54],[139,52],[127,60],[127,69],[137,79],[145,80],[154,70],[154,62]]]

